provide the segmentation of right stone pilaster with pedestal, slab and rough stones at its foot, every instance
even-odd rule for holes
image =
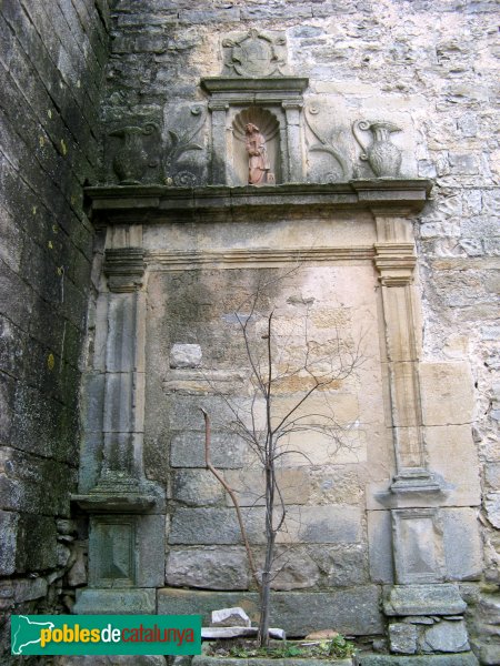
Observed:
[[[390,485],[394,583],[387,589],[392,653],[469,650],[467,605],[447,576],[441,486],[428,467],[419,376],[419,316],[411,223],[376,215],[396,474]],[[428,504],[428,506],[426,506]],[[438,507],[436,506],[438,504]],[[396,658],[396,657],[394,657]]]

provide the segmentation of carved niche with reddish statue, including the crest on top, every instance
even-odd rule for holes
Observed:
[[[222,74],[201,79],[209,95],[212,184],[303,182],[301,113],[309,79],[286,75],[286,47],[283,32],[229,34],[222,40]],[[246,142],[249,124],[257,130]],[[251,141],[264,147],[261,155],[251,154],[258,152],[249,149]],[[258,162],[262,179],[256,175]]]

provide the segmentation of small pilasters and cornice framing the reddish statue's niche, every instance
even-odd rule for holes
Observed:
[[[266,110],[279,123],[279,161],[274,164],[277,182],[304,181],[300,114],[308,85],[309,79],[299,77],[201,79],[201,88],[210,95],[212,184],[247,184],[241,182],[241,155],[236,155],[237,151],[244,151],[244,143],[236,135],[233,125],[244,110],[254,110],[256,113]]]

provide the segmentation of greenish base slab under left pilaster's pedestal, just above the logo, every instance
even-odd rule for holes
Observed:
[[[157,610],[154,588],[77,591],[73,614],[77,615],[152,615]]]

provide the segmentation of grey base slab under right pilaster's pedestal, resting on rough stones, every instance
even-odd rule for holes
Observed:
[[[458,585],[452,583],[393,585],[383,602],[383,612],[389,616],[457,615],[466,608]]]

